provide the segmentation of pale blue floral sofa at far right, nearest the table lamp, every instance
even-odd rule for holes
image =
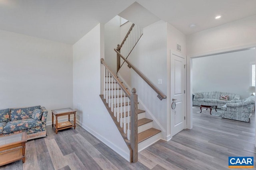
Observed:
[[[227,103],[221,108],[222,118],[249,122],[254,104],[255,96]]]

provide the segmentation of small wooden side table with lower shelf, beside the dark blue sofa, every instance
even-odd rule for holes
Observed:
[[[74,114],[74,124],[72,124],[70,122],[70,115],[72,115],[72,114]],[[55,117],[56,117],[55,124],[53,123],[53,121],[54,121],[53,115],[55,115]],[[64,116],[64,115],[68,115],[68,121],[58,123],[58,117]],[[76,111],[73,110],[72,108],[52,110],[52,127],[55,127],[56,133],[58,133],[59,130],[68,129],[70,127],[74,127],[74,129],[76,129]]]

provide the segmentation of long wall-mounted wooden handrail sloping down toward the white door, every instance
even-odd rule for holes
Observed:
[[[114,51],[116,51],[116,53],[122,57],[122,59],[128,64],[128,66],[130,68],[132,68],[158,95],[157,97],[162,100],[162,99],[166,99],[166,96],[164,94],[162,94],[162,92],[160,92],[135,66],[133,66],[128,60],[126,60],[126,58],[119,53],[119,51],[117,51],[116,49],[114,49]]]

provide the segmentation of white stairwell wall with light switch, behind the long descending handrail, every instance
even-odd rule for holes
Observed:
[[[166,36],[166,22],[164,21],[144,27],[142,38],[128,57],[128,61],[165,95],[167,92]],[[138,98],[148,107],[166,131],[166,100],[160,101],[156,92],[137,73],[132,69],[130,71],[130,87],[136,88]],[[158,79],[162,79],[162,84],[157,84]]]

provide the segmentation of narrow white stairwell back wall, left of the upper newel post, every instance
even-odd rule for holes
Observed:
[[[120,44],[120,16],[115,16],[105,24],[105,61],[113,72],[116,72],[116,52],[114,48]]]

